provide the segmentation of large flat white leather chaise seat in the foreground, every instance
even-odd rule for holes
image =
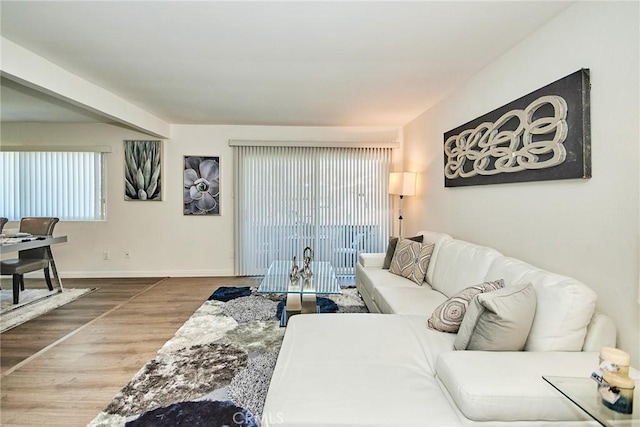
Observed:
[[[433,338],[435,331],[425,332],[422,317],[293,316],[271,378],[263,425],[417,426],[425,419],[460,425],[435,381],[430,356],[452,349],[453,340],[450,334]]]

